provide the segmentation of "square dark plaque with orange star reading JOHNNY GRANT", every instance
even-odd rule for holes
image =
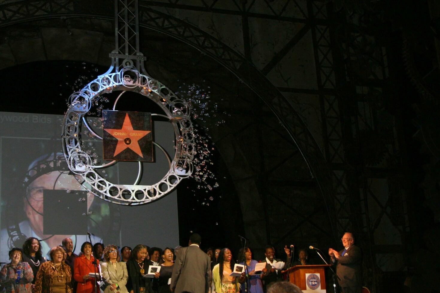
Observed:
[[[153,162],[151,113],[103,110],[105,160]]]

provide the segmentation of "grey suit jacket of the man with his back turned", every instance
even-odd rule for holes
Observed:
[[[171,288],[175,293],[208,293],[211,286],[211,260],[197,246],[183,247],[172,270]]]

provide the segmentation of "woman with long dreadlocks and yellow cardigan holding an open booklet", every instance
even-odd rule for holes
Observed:
[[[240,284],[245,281],[245,273],[242,273],[240,278],[231,277],[234,269],[235,261],[232,258],[232,253],[229,248],[224,248],[220,251],[218,257],[218,264],[213,268],[213,286],[216,293],[238,293]]]

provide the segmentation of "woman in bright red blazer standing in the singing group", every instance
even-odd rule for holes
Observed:
[[[99,260],[96,260],[96,270],[95,258],[92,256],[92,243],[84,242],[81,245],[81,251],[84,253],[75,259],[73,264],[73,279],[78,282],[77,293],[92,293],[94,292],[93,286],[96,285],[95,278],[90,277],[88,274],[99,272]],[[97,288],[96,292],[99,292]]]

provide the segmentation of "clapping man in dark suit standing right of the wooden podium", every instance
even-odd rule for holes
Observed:
[[[336,264],[336,275],[342,293],[362,292],[362,251],[354,245],[355,238],[352,233],[346,232],[342,236],[343,250],[337,251],[329,248],[329,255]]]

